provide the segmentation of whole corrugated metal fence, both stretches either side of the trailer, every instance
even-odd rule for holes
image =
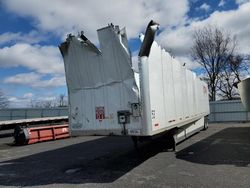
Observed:
[[[0,121],[55,116],[68,116],[68,108],[0,109]],[[240,100],[210,102],[209,122],[245,121],[250,121],[250,112],[244,110]]]

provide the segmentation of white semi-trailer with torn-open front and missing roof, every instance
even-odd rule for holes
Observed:
[[[72,135],[172,132],[182,140],[204,128],[207,85],[154,41],[157,29],[151,21],[133,63],[125,29],[112,24],[97,30],[100,48],[83,32],[59,46]]]

